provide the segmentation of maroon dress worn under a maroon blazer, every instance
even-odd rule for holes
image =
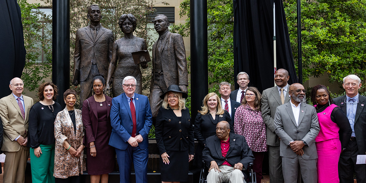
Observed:
[[[86,165],[89,175],[102,175],[113,172],[116,161],[115,149],[108,145],[107,102],[104,101],[102,104],[103,106],[97,105],[98,129],[94,141],[97,156],[92,157],[90,155],[90,148],[86,148]]]

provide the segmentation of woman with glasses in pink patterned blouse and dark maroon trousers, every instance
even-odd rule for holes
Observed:
[[[261,98],[256,87],[248,87],[242,105],[236,109],[234,120],[235,134],[243,135],[255,157],[253,171],[257,181],[262,176],[264,152],[267,151],[266,126],[262,119]]]

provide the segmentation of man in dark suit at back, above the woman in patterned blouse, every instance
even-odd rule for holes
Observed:
[[[242,103],[243,98],[245,97],[245,93],[248,88],[249,84],[249,75],[246,72],[239,72],[238,76],[236,76],[236,79],[239,84],[239,89],[234,90],[230,94],[231,100],[235,100],[236,102]]]

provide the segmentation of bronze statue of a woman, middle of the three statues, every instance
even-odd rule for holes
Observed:
[[[123,14],[119,20],[118,25],[121,28],[124,37],[116,40],[113,43],[112,60],[109,63],[108,77],[107,77],[107,92],[110,93],[111,82],[113,97],[119,96],[123,93],[122,81],[126,76],[134,76],[137,80],[135,93],[142,93],[142,74],[140,66],[147,68],[147,61],[145,57],[140,57],[141,64],[135,64],[132,58],[132,52],[147,50],[146,41],[142,38],[135,37],[133,32],[136,29],[136,18],[132,14]],[[118,65],[117,65],[118,60]]]

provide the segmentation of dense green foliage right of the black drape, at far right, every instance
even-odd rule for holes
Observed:
[[[296,0],[284,1],[297,67]],[[344,76],[366,79],[366,0],[301,0],[303,80],[329,75],[339,85]]]

